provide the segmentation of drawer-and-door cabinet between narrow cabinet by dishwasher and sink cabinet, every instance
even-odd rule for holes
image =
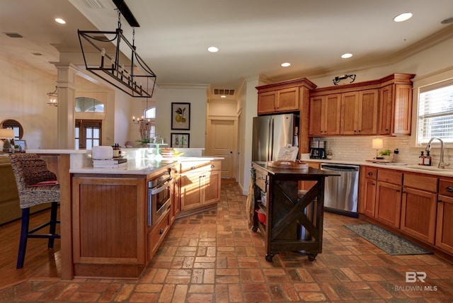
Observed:
[[[402,183],[400,171],[379,169],[374,215],[380,222],[396,228],[400,224]]]

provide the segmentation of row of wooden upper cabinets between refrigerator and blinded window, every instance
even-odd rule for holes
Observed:
[[[413,76],[311,90],[309,135],[411,135]]]

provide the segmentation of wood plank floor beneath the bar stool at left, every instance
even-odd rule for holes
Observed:
[[[59,217],[59,216],[58,216]],[[50,219],[50,210],[30,217],[30,227],[36,227]],[[43,229],[45,231],[45,229]],[[57,232],[59,227],[57,226]],[[0,290],[29,278],[55,279],[61,277],[60,241],[54,248],[47,248],[47,239],[28,239],[23,268],[16,269],[21,219],[0,227]]]

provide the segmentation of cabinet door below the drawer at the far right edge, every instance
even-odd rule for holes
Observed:
[[[453,253],[453,198],[439,195],[437,203],[436,246]]]

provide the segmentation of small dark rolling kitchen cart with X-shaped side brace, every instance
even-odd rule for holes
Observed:
[[[335,173],[316,168],[275,168],[253,162],[255,174],[253,231],[265,236],[266,261],[280,251],[300,251],[314,261],[322,252],[324,181]],[[306,192],[299,181],[315,181]],[[258,219],[258,212],[265,219]]]

